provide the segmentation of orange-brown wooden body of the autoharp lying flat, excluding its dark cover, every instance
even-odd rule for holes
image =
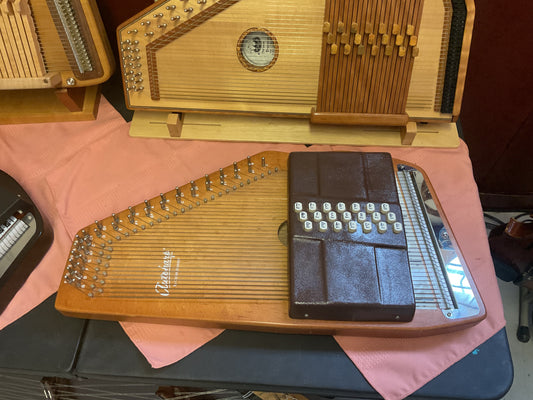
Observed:
[[[287,158],[248,157],[80,230],[56,308],[81,318],[403,337],[462,329],[485,317],[427,178],[396,161],[413,319],[290,318]]]

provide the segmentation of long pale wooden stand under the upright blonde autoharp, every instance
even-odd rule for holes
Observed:
[[[307,119],[135,111],[130,136],[177,140],[275,142],[354,146],[459,146],[453,123],[407,126],[313,125]]]

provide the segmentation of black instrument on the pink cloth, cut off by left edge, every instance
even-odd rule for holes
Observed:
[[[52,230],[24,189],[0,171],[0,313],[52,244]]]

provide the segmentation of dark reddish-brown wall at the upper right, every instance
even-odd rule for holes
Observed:
[[[476,1],[460,121],[484,207],[533,210],[533,1]]]

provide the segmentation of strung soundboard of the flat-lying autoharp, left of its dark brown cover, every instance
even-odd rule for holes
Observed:
[[[236,164],[191,181],[96,222],[92,237],[82,231],[71,265],[81,262],[86,289],[106,298],[160,298],[154,288],[164,272],[171,298],[284,300],[286,252],[272,215],[285,218],[287,199],[272,193],[285,176]]]

